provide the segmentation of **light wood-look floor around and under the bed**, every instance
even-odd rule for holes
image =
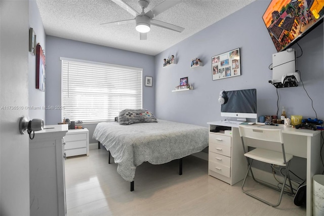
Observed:
[[[270,207],[241,191],[241,182],[230,186],[208,175],[208,162],[193,156],[178,162],[136,168],[135,190],[108,164],[105,149],[90,156],[65,161],[67,215],[306,215],[305,207],[284,195],[278,207]],[[279,192],[264,189],[248,179],[253,193],[273,197]]]

